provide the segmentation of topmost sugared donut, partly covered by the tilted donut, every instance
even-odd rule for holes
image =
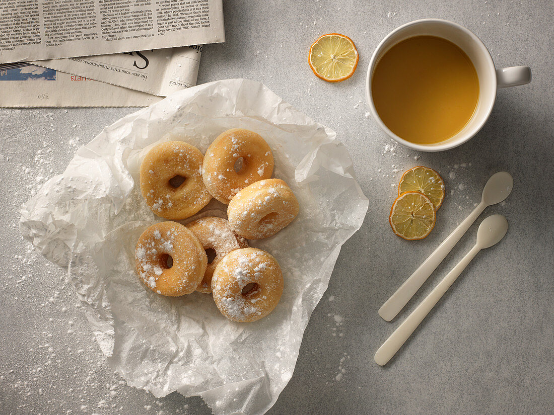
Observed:
[[[242,168],[235,163],[243,159]],[[273,174],[273,154],[259,134],[233,128],[219,134],[204,156],[202,177],[209,193],[227,205],[240,189]]]

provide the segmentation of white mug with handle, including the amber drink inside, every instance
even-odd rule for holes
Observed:
[[[531,81],[529,66],[496,70],[485,45],[459,24],[404,24],[377,46],[366,98],[379,127],[406,147],[443,151],[473,137],[493,109],[496,89]]]

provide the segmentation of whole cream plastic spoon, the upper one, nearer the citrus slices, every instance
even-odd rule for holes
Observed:
[[[461,224],[454,229],[452,234],[433,251],[416,271],[391,295],[391,297],[379,308],[379,315],[386,321],[391,321],[404,308],[404,305],[416,294],[419,287],[423,285],[430,274],[435,271],[439,264],[444,260],[452,248],[465,232],[469,229],[478,216],[485,210],[485,207],[500,203],[506,199],[512,187],[514,179],[510,173],[498,172],[493,174],[486,182],[481,195],[481,203],[475,207],[475,210],[464,219]]]

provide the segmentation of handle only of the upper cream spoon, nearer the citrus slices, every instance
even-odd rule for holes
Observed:
[[[391,295],[391,297],[379,308],[379,315],[386,321],[391,321],[404,308],[404,305],[417,293],[419,287],[423,285],[430,274],[435,271],[439,264],[444,260],[454,245],[475,222],[478,216],[485,210],[485,203],[481,201],[474,211],[459,224],[452,234],[433,251],[427,260],[419,266],[416,271]]]

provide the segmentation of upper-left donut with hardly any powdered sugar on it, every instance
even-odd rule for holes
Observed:
[[[152,212],[181,220],[208,204],[212,196],[202,180],[203,159],[196,147],[183,141],[158,144],[146,154],[140,166],[140,188]]]

